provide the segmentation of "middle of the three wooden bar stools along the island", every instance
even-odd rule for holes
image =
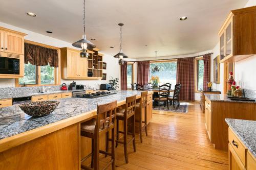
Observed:
[[[129,98],[126,98],[125,108],[117,109],[116,121],[117,121],[117,138],[116,138],[116,147],[118,143],[123,144],[125,162],[128,163],[127,156],[127,144],[133,141],[133,150],[136,152],[135,146],[135,105],[136,105],[136,95],[133,95]],[[127,120],[132,118],[132,139],[127,141]],[[123,131],[119,131],[119,120],[123,121]],[[123,141],[119,139],[119,133],[123,134]]]

